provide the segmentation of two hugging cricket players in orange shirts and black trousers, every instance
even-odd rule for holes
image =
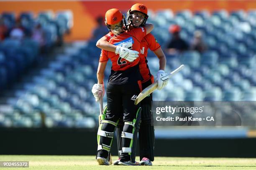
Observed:
[[[154,76],[147,65],[148,48],[159,58],[157,89],[168,83],[169,74],[164,72],[166,57],[161,46],[150,34],[154,25],[147,24],[147,7],[134,4],[127,13],[127,24],[120,10],[112,8],[105,14],[105,24],[110,31],[97,41],[102,49],[97,70],[97,84],[92,93],[96,101],[104,96],[104,71],[108,59],[112,62],[107,86],[107,106],[100,115],[97,132],[97,162],[112,164],[110,148],[117,129],[118,156],[114,165],[152,165],[154,161],[154,126],[151,125],[152,94],[138,105],[134,96],[154,83]],[[139,53],[140,52],[140,53]],[[136,98],[136,97],[135,97]],[[139,134],[140,163],[135,161],[137,134]]]

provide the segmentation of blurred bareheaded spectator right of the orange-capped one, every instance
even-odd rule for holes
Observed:
[[[196,50],[200,53],[207,50],[207,45],[202,40],[202,32],[200,32],[198,30],[194,32],[194,39],[192,40],[190,49],[191,50]]]

